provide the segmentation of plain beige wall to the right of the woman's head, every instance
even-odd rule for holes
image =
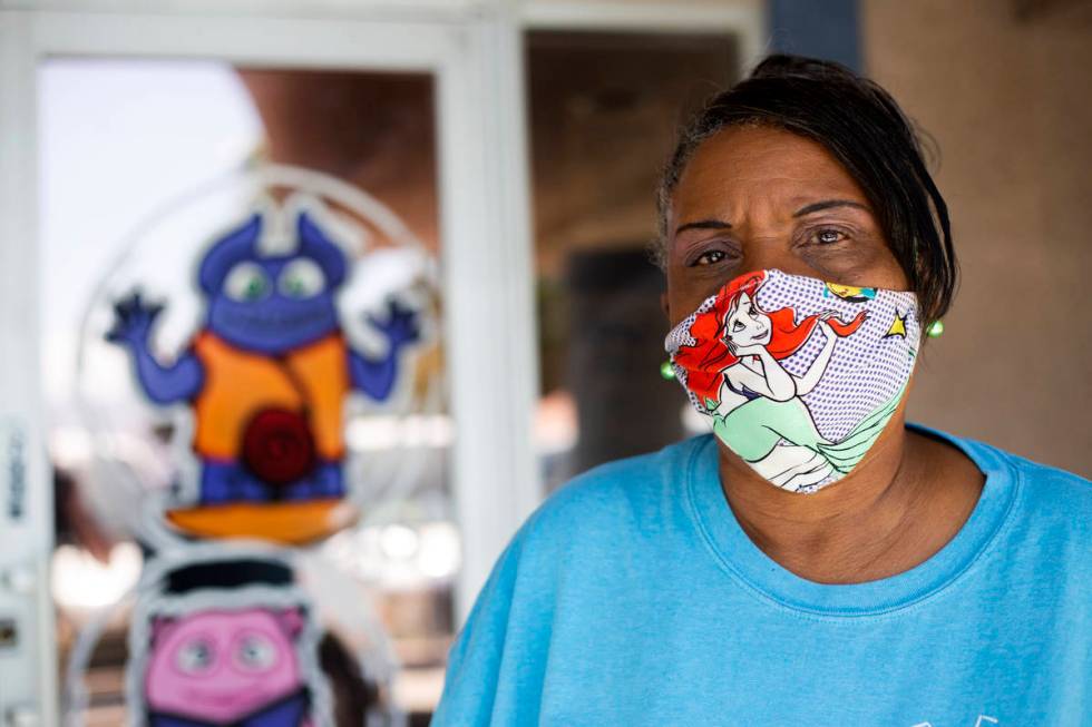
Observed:
[[[1092,6],[861,0],[861,14],[867,72],[939,145],[963,268],[910,419],[1090,477]]]

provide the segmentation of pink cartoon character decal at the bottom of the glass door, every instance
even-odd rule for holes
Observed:
[[[153,564],[129,630],[130,724],[331,724],[312,613],[291,569],[275,559]]]

